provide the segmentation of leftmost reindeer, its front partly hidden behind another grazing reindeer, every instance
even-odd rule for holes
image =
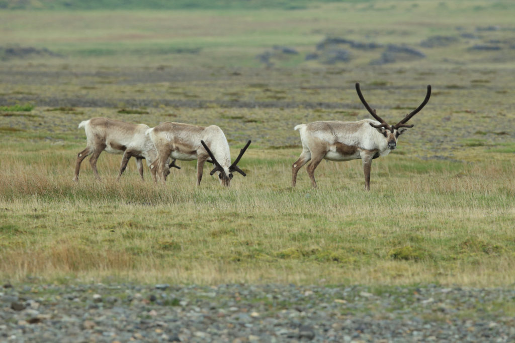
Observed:
[[[87,146],[84,150],[77,154],[77,164],[75,166],[74,181],[79,180],[80,164],[82,160],[91,155],[90,164],[93,168],[95,177],[100,180],[96,163],[98,156],[102,151],[112,154],[123,154],[122,164],[116,180],[122,176],[129,159],[134,156],[136,158],[136,166],[143,180],[143,164],[142,159],[150,165],[156,157],[157,152],[152,141],[145,135],[145,131],[149,129],[145,124],[130,124],[116,119],[109,118],[92,118],[84,120],[79,124],[79,129],[84,128],[86,132]],[[169,167],[180,167],[175,165],[173,160]]]

